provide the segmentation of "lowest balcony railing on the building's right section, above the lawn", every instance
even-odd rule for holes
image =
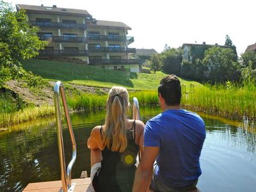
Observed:
[[[90,65],[129,65],[141,64],[140,60],[89,60]]]

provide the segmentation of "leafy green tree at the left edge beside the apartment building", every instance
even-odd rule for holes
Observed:
[[[0,1],[0,87],[10,79],[40,78],[26,72],[20,63],[37,56],[47,45],[36,36],[39,30],[26,20],[24,11],[14,12],[12,6]]]

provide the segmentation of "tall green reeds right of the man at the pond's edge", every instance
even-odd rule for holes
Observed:
[[[185,106],[228,118],[256,118],[256,86],[253,81],[243,83],[205,84],[182,97]]]

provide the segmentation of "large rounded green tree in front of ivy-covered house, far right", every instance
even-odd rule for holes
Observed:
[[[205,51],[202,61],[207,68],[205,77],[212,83],[239,79],[239,65],[234,59],[234,51],[229,48],[211,47]]]

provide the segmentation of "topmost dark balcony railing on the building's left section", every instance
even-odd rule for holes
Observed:
[[[38,26],[40,28],[86,29],[86,24],[65,23],[65,22],[37,22],[35,20],[30,20],[30,23],[33,26]]]

